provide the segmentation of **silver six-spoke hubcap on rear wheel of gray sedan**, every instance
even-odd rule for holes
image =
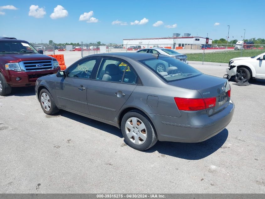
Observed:
[[[146,126],[140,119],[131,117],[126,121],[126,135],[134,144],[140,145],[146,141],[146,131]]]

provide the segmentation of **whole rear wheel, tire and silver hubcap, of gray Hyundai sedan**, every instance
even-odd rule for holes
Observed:
[[[149,149],[158,140],[150,119],[138,110],[132,110],[123,116],[121,131],[126,143],[139,151]]]

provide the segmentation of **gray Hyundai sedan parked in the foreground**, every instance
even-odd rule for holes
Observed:
[[[157,63],[166,71],[157,72]],[[44,113],[62,109],[114,125],[137,150],[157,140],[200,142],[216,135],[234,113],[230,90],[226,79],[151,53],[90,55],[35,86]]]

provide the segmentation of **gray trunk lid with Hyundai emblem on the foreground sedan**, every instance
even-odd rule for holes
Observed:
[[[227,92],[229,83],[224,78],[203,74],[184,80],[172,81],[168,84],[197,90],[202,98],[216,97],[215,107],[206,109],[209,116],[223,110],[230,101]]]

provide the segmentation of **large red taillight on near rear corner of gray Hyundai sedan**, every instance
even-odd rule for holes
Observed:
[[[174,100],[178,109],[181,111],[199,111],[206,108],[213,108],[216,103],[216,97],[200,99],[174,97]]]

